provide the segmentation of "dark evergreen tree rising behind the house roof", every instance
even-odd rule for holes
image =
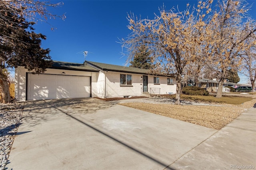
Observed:
[[[138,47],[138,52],[134,55],[133,61],[130,61],[130,67],[141,68],[141,69],[150,69],[152,68],[152,62],[149,57],[150,52],[142,45]]]

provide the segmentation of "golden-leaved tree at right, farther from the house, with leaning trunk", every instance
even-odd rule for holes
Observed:
[[[209,45],[204,47],[211,49],[210,53],[206,53],[208,62],[214,63],[214,68],[220,73],[216,95],[220,98],[227,71],[241,63],[240,53],[250,46],[245,41],[254,36],[256,24],[253,20],[243,21],[250,9],[246,1],[219,1],[216,9],[206,26]]]

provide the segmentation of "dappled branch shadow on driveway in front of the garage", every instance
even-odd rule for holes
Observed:
[[[26,115],[22,118],[22,121],[29,124],[30,127],[34,127],[42,122],[54,120],[55,118],[52,118],[54,114],[59,114],[56,108],[61,108],[69,114],[92,114],[113,105],[115,103],[93,98],[27,101],[23,110]]]

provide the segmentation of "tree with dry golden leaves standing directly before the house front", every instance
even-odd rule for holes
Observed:
[[[203,10],[211,10],[212,0],[200,2],[197,8],[180,12],[171,9],[160,9],[160,16],[155,14],[153,20],[138,19],[133,15],[128,16],[129,26],[132,33],[123,39],[122,47],[128,49],[128,61],[136,55],[136,47],[141,44],[150,49],[150,57],[155,63],[159,73],[174,73],[176,76],[176,104],[180,105],[180,93],[182,74],[189,63],[195,62],[198,46],[202,42],[202,31],[205,23]]]

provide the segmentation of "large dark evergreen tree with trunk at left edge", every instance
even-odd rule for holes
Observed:
[[[0,10],[0,16],[4,16],[0,20],[0,93],[2,103],[10,103],[8,80],[3,69],[24,66],[33,73],[42,73],[52,62],[50,50],[40,47],[46,36],[33,32],[35,23],[27,22],[18,13],[8,10],[8,6],[4,7],[7,9]]]

